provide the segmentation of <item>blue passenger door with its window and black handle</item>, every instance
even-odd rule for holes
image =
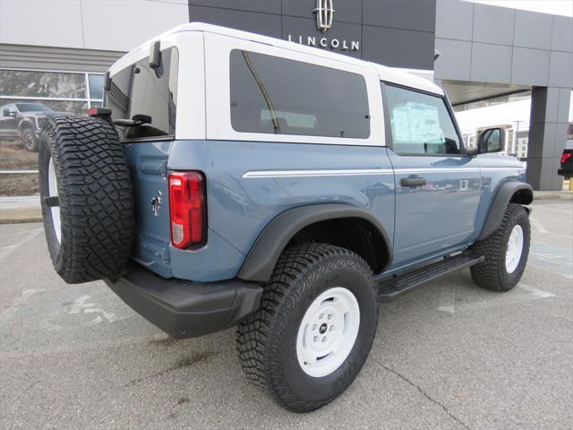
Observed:
[[[395,269],[473,239],[481,175],[475,158],[465,155],[444,96],[382,87],[396,178]]]

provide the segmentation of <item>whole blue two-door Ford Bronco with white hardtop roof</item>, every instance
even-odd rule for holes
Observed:
[[[514,288],[533,192],[499,128],[466,148],[423,78],[190,23],[40,137],[47,245],[174,338],[237,326],[244,373],[298,412],[362,368],[389,302],[451,271]]]

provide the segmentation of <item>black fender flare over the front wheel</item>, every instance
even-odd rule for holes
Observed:
[[[525,182],[512,181],[501,185],[493,197],[490,211],[487,214],[487,218],[483,223],[482,232],[477,240],[485,239],[500,227],[503,214],[508,209],[509,202],[512,201],[516,193],[518,198],[515,199],[515,202],[519,204],[529,204],[534,201],[534,189]]]

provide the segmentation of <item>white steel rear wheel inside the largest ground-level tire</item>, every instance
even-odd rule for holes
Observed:
[[[360,307],[346,288],[329,288],[304,314],[296,336],[296,357],[315,378],[338,369],[350,355],[360,328]]]

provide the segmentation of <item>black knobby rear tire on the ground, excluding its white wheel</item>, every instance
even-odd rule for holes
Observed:
[[[360,309],[358,335],[338,369],[312,377],[299,365],[296,337],[313,300],[333,287],[354,294]],[[261,308],[239,324],[236,348],[247,378],[283,408],[309,412],[336,399],[355,380],[377,325],[372,271],[361,257],[333,245],[295,245],[280,256],[265,285]]]

